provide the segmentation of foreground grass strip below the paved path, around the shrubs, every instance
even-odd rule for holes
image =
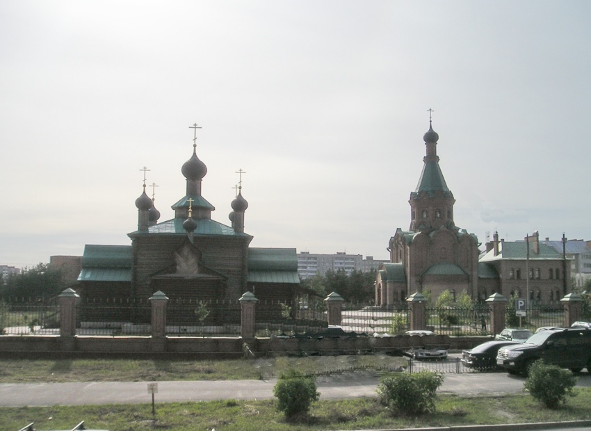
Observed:
[[[589,418],[591,389],[557,410],[541,407],[531,396],[462,398],[442,395],[437,412],[418,418],[393,416],[377,398],[314,402],[310,414],[289,423],[275,410],[275,400],[171,402],[152,405],[0,408],[0,429],[19,430],[35,423],[37,430],[71,429],[79,421],[86,428],[133,430],[359,430],[422,428],[451,425],[573,421]]]

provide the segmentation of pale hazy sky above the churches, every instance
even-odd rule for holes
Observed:
[[[589,1],[0,1],[0,265],[130,245],[207,165],[252,247],[388,259],[423,134],[481,243],[591,240]],[[152,188],[148,188],[152,196]],[[483,246],[480,247],[481,249]]]

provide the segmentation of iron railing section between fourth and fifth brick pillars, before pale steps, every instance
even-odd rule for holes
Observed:
[[[341,317],[341,327],[347,332],[394,335],[403,334],[410,329],[409,310],[406,304],[388,309],[363,304],[346,304]]]

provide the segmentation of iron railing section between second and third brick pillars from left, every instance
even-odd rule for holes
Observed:
[[[238,300],[170,300],[166,334],[172,336],[240,336]]]

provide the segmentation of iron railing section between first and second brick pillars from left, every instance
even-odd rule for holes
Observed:
[[[152,334],[151,306],[146,300],[93,298],[76,304],[76,334],[118,336]]]

